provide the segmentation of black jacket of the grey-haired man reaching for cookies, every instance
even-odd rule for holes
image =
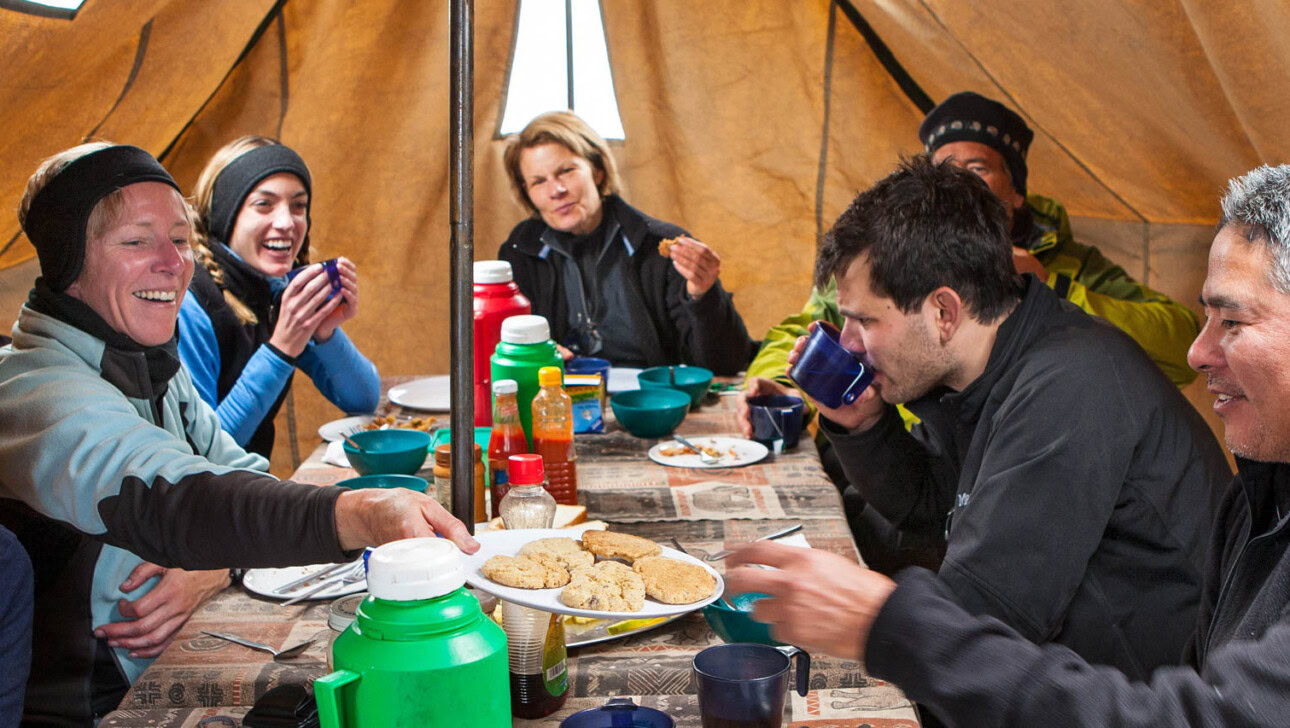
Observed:
[[[1290,724],[1290,487],[1286,463],[1237,461],[1214,524],[1189,663],[1135,682],[1058,645],[973,620],[922,569],[897,576],[866,662],[951,725],[1284,728]],[[1259,528],[1255,524],[1271,524]]]

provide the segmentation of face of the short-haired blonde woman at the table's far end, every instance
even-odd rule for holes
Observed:
[[[553,230],[587,235],[600,226],[602,173],[569,147],[552,142],[524,150],[520,174],[529,201]]]

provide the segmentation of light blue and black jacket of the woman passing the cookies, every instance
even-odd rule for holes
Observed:
[[[36,567],[27,719],[88,724],[104,662],[126,685],[147,666],[93,636],[123,620],[119,599],[155,586],[120,590],[142,561],[214,569],[344,558],[342,490],[280,483],[266,466],[221,430],[183,368],[159,385],[142,351],[23,306],[13,343],[0,349],[0,520]]]

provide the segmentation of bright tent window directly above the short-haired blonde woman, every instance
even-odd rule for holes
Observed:
[[[568,6],[571,13],[566,19],[566,0],[520,0],[502,112],[503,136],[519,133],[538,114],[573,110],[601,137],[624,138],[600,3],[568,0]]]

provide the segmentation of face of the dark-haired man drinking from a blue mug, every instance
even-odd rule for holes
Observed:
[[[873,385],[889,404],[900,404],[931,391],[955,370],[940,345],[925,302],[911,314],[869,287],[868,256],[858,257],[837,281],[837,305],[846,321],[842,346],[873,370]]]

